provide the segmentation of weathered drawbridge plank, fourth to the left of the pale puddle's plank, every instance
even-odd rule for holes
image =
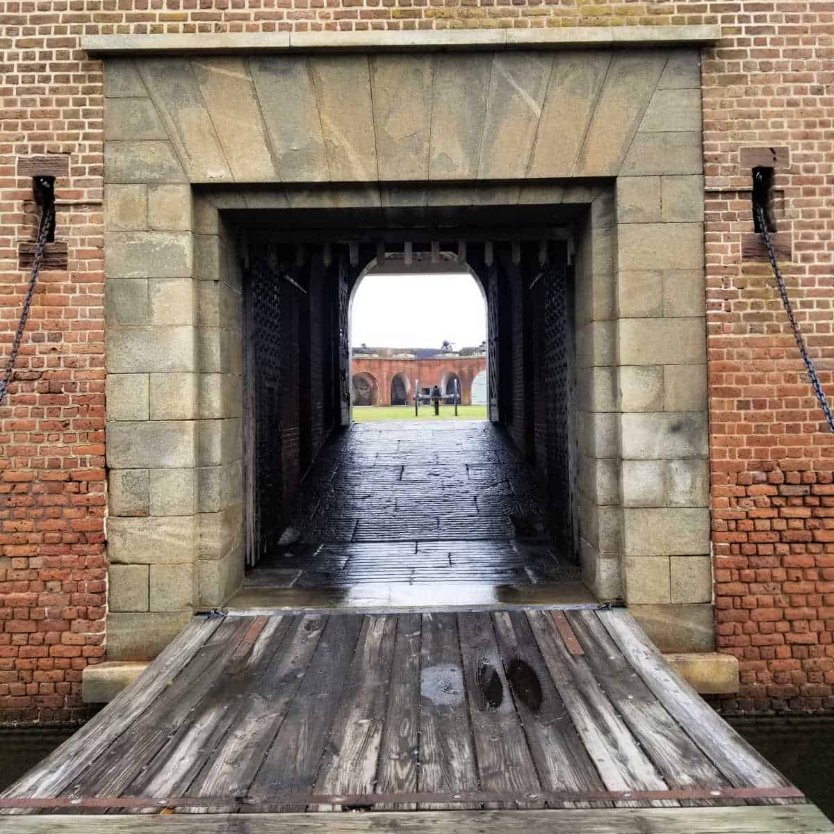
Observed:
[[[243,796],[249,790],[302,685],[325,622],[321,614],[294,617],[282,651],[276,652],[234,727],[189,786],[191,796]],[[214,809],[193,810],[208,813]]]

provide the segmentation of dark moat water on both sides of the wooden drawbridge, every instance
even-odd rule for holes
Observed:
[[[732,726],[834,820],[834,718],[733,718]],[[0,791],[75,728],[0,728]]]

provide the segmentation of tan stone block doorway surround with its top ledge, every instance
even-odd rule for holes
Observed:
[[[717,27],[83,38],[104,58],[108,658],[244,566],[225,209],[575,204],[585,582],[712,647],[699,43]]]

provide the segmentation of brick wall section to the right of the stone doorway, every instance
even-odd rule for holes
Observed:
[[[741,661],[737,710],[834,708],[834,443],[752,229],[740,146],[790,149],[776,170],[784,272],[834,394],[834,3],[724,3],[702,60],[716,643]]]

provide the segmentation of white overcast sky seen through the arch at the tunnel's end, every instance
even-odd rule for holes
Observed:
[[[470,274],[384,275],[354,295],[351,342],[374,348],[468,348],[486,339],[484,297]]]

